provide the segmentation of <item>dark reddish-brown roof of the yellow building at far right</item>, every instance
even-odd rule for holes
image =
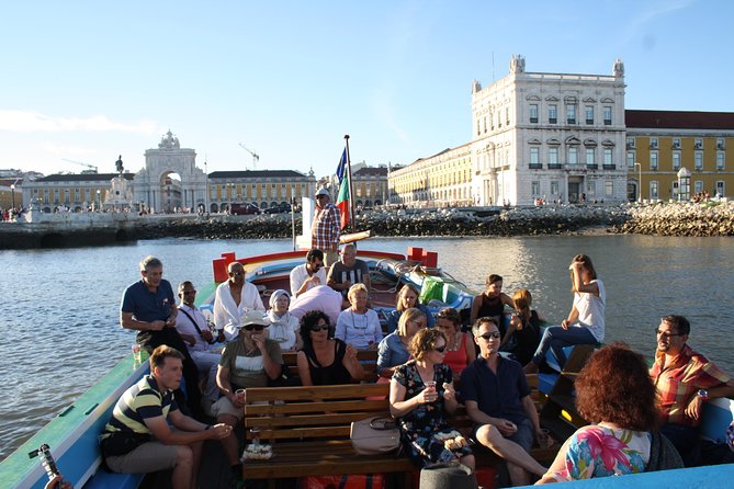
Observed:
[[[624,111],[626,128],[734,129],[734,112]]]

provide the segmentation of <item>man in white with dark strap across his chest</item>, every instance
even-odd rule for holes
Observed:
[[[189,354],[196,364],[200,373],[206,376],[206,391],[203,396],[204,412],[219,398],[216,386],[216,367],[222,355],[214,353],[212,343],[215,338],[208,329],[206,318],[194,305],[196,289],[189,282],[179,284],[179,315],[176,317],[176,329],[189,350]]]

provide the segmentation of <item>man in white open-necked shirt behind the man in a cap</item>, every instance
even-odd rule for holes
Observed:
[[[258,293],[258,287],[245,281],[245,266],[234,261],[227,266],[229,280],[216,287],[214,295],[214,323],[224,330],[226,341],[232,341],[239,333],[240,319],[248,310],[261,310],[266,307]]]

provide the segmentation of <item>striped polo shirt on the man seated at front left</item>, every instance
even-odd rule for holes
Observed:
[[[134,432],[150,434],[146,419],[168,418],[169,412],[179,409],[170,390],[161,391],[153,375],[147,375],[125,390],[115,405],[104,434]]]

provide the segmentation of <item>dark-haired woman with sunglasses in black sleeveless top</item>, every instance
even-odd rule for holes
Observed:
[[[351,384],[364,377],[357,350],[330,338],[329,317],[310,310],[301,318],[303,350],[298,352],[298,376],[304,386]]]

